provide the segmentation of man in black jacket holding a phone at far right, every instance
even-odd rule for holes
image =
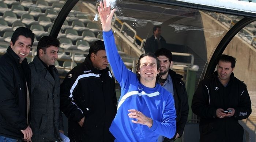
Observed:
[[[192,111],[201,118],[200,142],[242,142],[238,120],[251,114],[251,100],[246,85],[234,77],[236,58],[222,55],[217,63],[217,71],[199,83],[192,100]]]

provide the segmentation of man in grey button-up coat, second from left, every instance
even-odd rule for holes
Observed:
[[[29,64],[31,70],[30,125],[32,141],[61,142],[63,133],[60,112],[60,78],[54,62],[58,58],[60,42],[51,36],[42,37],[37,45],[37,56]]]

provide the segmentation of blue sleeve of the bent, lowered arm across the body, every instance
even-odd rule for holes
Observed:
[[[170,94],[166,101],[166,107],[163,111],[162,122],[153,120],[153,125],[150,128],[155,133],[167,138],[173,138],[176,133],[176,110],[172,94]]]

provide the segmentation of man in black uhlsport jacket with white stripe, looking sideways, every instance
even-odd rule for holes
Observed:
[[[103,41],[95,41],[85,61],[60,87],[61,111],[68,117],[72,142],[113,142],[109,127],[116,115],[115,81],[107,67]]]

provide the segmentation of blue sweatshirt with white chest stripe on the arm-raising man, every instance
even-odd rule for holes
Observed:
[[[176,113],[173,95],[156,84],[154,88],[142,85],[136,74],[126,68],[119,56],[112,31],[103,32],[108,61],[121,86],[117,114],[110,126],[116,141],[156,142],[159,135],[172,138],[176,131]],[[136,109],[153,119],[153,125],[132,123],[128,110]],[[135,120],[136,121],[136,120]]]

